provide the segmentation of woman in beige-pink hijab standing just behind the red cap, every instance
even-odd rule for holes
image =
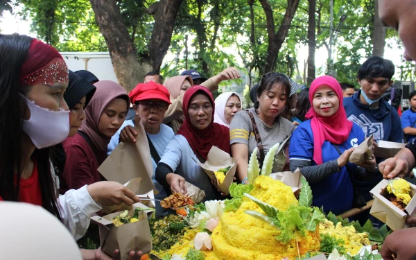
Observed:
[[[163,123],[170,126],[176,133],[184,121],[184,112],[182,111],[184,93],[193,86],[193,81],[191,76],[175,76],[168,78],[163,85],[171,94],[172,103],[166,111]]]

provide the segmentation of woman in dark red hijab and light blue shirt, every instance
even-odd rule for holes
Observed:
[[[214,97],[205,87],[193,86],[184,94],[183,111],[185,121],[159,161],[156,180],[168,193],[187,193],[187,181],[205,191],[205,200],[219,198],[197,162],[207,160],[212,146],[229,153],[229,129],[214,123]]]

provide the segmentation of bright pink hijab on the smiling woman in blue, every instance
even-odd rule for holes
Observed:
[[[318,115],[313,109],[313,95],[318,87],[327,85],[333,89],[340,100],[338,111],[330,117]],[[309,88],[309,101],[312,107],[306,113],[306,119],[311,119],[313,132],[313,160],[316,164],[322,164],[322,144],[329,141],[331,144],[343,144],[347,141],[352,129],[352,121],[347,119],[347,113],[343,106],[343,89],[340,83],[331,76],[322,76],[313,80]]]

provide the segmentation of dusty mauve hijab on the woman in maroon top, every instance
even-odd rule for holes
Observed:
[[[80,127],[80,132],[83,132],[89,137],[94,146],[100,152],[107,152],[107,146],[110,143],[111,137],[105,137],[98,131],[98,122],[105,107],[114,98],[123,98],[127,102],[126,110],[130,105],[130,98],[123,87],[110,80],[100,80],[94,84],[97,90],[85,107],[85,120]]]

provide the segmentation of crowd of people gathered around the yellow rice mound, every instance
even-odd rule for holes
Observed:
[[[416,3],[395,2],[380,0],[380,17],[399,30],[406,58],[416,59],[412,19],[404,15],[416,12]],[[400,117],[390,95],[394,73],[394,64],[379,56],[358,69],[360,89],[331,76],[320,76],[305,88],[283,73],[268,72],[250,90],[254,106],[243,110],[235,92],[213,96],[219,83],[240,78],[233,67],[211,78],[189,70],[164,80],[152,71],[127,93],[89,71],[69,71],[60,53],[39,40],[0,35],[0,200],[6,201],[0,211],[20,210],[10,202],[41,206],[77,240],[103,205],[139,202],[132,191],[98,172],[120,142],[137,141],[139,123],[148,137],[159,200],[172,192],[187,193],[185,182],[205,191],[205,200],[223,200],[227,197],[216,180],[198,165],[209,150],[216,146],[236,158],[235,181],[247,184],[253,150],[258,149],[262,163],[279,143],[284,149],[272,171],[300,168],[311,184],[314,206],[336,215],[363,207],[383,177],[404,177],[416,166],[416,92]],[[374,141],[408,144],[394,158],[372,155],[360,165],[350,163],[349,155],[370,135]],[[166,211],[157,207],[156,214]],[[362,212],[356,219],[369,216]],[[404,238],[406,243],[398,243]],[[413,228],[393,232],[383,245],[383,258],[411,259],[416,255],[413,239]],[[111,259],[100,249],[76,255]],[[114,259],[117,255],[115,250]],[[132,251],[129,258],[140,255]]]

